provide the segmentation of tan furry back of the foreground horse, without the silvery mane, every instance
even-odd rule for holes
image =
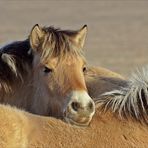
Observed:
[[[13,119],[13,120],[12,120]],[[114,147],[145,148],[148,145],[147,125],[121,120],[111,112],[97,109],[87,128],[66,124],[52,117],[29,114],[0,105],[1,147]]]

